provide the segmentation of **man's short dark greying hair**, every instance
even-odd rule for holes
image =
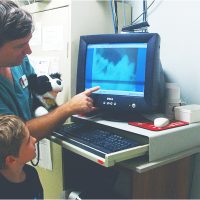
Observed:
[[[32,16],[13,1],[0,0],[0,47],[33,32]]]

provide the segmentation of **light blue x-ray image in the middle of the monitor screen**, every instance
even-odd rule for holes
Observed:
[[[102,88],[111,90],[133,90],[130,84],[135,80],[135,49],[98,48],[94,50],[93,81],[100,83]],[[132,53],[132,56],[129,55]]]

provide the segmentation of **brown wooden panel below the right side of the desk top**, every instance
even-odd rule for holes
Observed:
[[[188,199],[192,181],[193,156],[138,173],[122,168],[130,177],[131,199]],[[125,195],[125,194],[123,194]]]

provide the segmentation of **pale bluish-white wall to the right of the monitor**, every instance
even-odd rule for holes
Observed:
[[[149,14],[149,32],[161,36],[161,61],[167,80],[180,85],[187,104],[200,104],[200,1],[155,1]],[[197,156],[192,198],[200,198],[199,169],[200,156]]]

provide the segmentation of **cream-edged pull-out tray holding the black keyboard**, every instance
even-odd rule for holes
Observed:
[[[67,126],[70,126],[69,128]],[[70,129],[72,127],[72,129]],[[61,144],[64,148],[77,153],[87,159],[90,159],[102,166],[105,167],[111,167],[114,166],[116,163],[128,160],[131,158],[139,157],[148,152],[149,145],[145,142],[137,141],[138,145],[135,147],[118,150],[116,152],[101,152],[98,151],[98,149],[95,149],[93,147],[90,147],[90,145],[85,145],[82,142],[80,142],[78,139],[73,137],[68,137],[67,134],[63,134],[63,128],[67,128],[70,133],[77,132],[77,131],[85,131],[87,130],[87,127],[85,125],[79,124],[79,127],[76,127],[76,125],[64,125],[59,130],[54,131],[54,134],[51,137],[51,139],[59,144]],[[93,128],[93,127],[92,127]],[[102,128],[102,127],[101,127]],[[80,130],[78,130],[80,129]],[[88,129],[91,129],[91,125],[88,126]],[[117,131],[117,134],[121,134],[124,136],[124,131]],[[125,134],[127,135],[127,133]],[[130,138],[129,138],[130,140]],[[134,142],[136,139],[134,138]]]

